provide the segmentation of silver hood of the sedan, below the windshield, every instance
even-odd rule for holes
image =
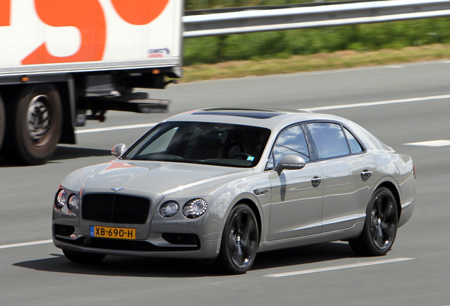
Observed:
[[[63,181],[67,188],[110,191],[129,188],[154,191],[163,196],[214,181],[236,179],[253,169],[171,162],[115,160],[75,171]]]

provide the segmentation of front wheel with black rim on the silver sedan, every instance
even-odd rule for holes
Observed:
[[[245,204],[237,205],[226,219],[214,265],[225,273],[246,273],[255,261],[258,245],[258,223],[253,210]]]

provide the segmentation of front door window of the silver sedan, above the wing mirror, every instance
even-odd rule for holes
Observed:
[[[267,166],[275,166],[285,155],[297,155],[302,157],[305,162],[308,162],[311,159],[301,125],[296,125],[284,130],[284,132],[279,135]]]

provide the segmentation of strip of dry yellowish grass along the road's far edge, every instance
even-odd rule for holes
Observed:
[[[383,49],[371,52],[347,50],[319,53],[316,55],[293,55],[287,59],[195,64],[184,67],[184,76],[180,81],[191,82],[269,74],[289,74],[294,72],[311,72],[380,64],[423,62],[446,58],[450,58],[450,45],[443,44],[405,47],[402,50]]]

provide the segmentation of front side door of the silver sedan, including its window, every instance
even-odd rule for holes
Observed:
[[[269,165],[277,166],[285,155],[298,155],[306,165],[299,170],[270,172],[272,198],[270,209],[269,240],[287,239],[321,232],[322,171],[311,161],[304,130],[295,125],[280,133]]]

